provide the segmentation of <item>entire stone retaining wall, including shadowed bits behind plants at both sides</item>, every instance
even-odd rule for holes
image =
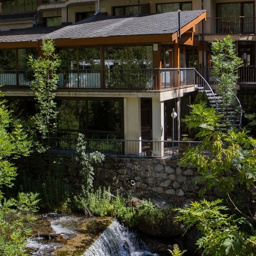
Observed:
[[[62,179],[74,191],[78,191],[82,184],[79,174],[82,166],[76,162],[74,155],[58,156],[58,159],[50,161],[55,163],[55,166],[51,166],[54,169],[53,177]],[[48,162],[34,154],[30,158],[19,159],[18,166],[20,169],[29,166],[30,172],[38,176],[47,171]],[[140,199],[151,198],[159,206],[188,206],[192,200],[201,199],[198,192],[202,184],[195,185],[193,182],[197,176],[196,168],[181,168],[176,159],[105,157],[102,163],[95,166],[94,173],[95,186],[110,187],[114,195],[120,191]],[[242,195],[243,203],[249,204],[250,197],[245,196],[245,188],[236,189],[234,193],[236,197]],[[209,200],[217,197],[225,197],[225,193],[214,188],[204,195]]]

